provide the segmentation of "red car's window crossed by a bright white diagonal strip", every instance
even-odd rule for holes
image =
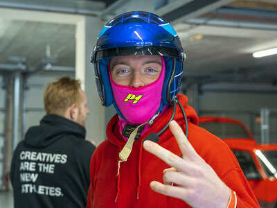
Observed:
[[[267,176],[277,178],[277,150],[256,150],[255,154]]]

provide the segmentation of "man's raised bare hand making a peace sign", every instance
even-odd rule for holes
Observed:
[[[170,123],[170,131],[177,140],[182,157],[152,141],[146,140],[143,143],[145,150],[172,166],[163,171],[163,184],[152,181],[151,189],[184,200],[191,207],[227,207],[230,199],[229,187],[196,153],[176,121]]]

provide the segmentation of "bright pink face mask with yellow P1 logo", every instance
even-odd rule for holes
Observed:
[[[161,105],[161,92],[165,76],[165,61],[161,56],[162,69],[159,78],[143,87],[129,87],[114,83],[109,72],[111,89],[121,114],[130,123],[145,123],[157,112]]]

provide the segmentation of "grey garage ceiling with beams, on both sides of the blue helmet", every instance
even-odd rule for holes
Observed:
[[[252,56],[256,50],[277,47],[276,0],[150,0],[148,3],[151,7],[145,4],[144,10],[166,17],[177,30],[188,56],[184,67],[186,77],[271,83],[277,80],[277,55]],[[134,10],[132,4],[134,1],[124,0],[0,0],[0,8],[105,17]],[[75,67],[75,26],[0,18],[0,71],[14,69],[20,59],[30,71],[43,68],[48,62]]]

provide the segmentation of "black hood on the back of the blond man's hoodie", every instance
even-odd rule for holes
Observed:
[[[33,148],[43,148],[53,144],[66,135],[74,135],[84,139],[86,130],[79,123],[55,114],[42,118],[40,125],[28,129],[24,144]]]

